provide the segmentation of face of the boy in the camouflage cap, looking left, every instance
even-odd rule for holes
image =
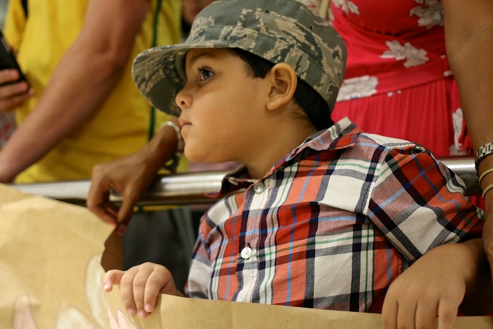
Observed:
[[[253,78],[228,49],[192,49],[187,83],[176,95],[185,155],[198,162],[241,161],[256,156],[268,112],[268,79]]]

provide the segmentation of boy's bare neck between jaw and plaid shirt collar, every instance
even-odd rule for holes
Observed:
[[[244,161],[250,178],[261,179],[284,156],[291,153],[317,129],[308,123],[292,120],[276,127],[266,127],[261,145],[253,146]]]

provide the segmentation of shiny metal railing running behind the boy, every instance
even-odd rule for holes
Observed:
[[[466,195],[481,194],[478,176],[472,156],[454,156],[440,159],[465,183]],[[218,192],[227,171],[211,171],[156,176],[149,189],[142,195],[138,205],[185,205],[214,203],[215,198],[206,193]],[[60,201],[85,205],[91,182],[67,181],[54,183],[12,184],[23,192],[39,194]],[[122,197],[110,194],[110,200],[121,203]]]

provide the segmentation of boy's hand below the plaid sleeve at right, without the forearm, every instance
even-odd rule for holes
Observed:
[[[440,261],[440,260],[437,260]],[[382,318],[384,328],[454,328],[465,293],[457,268],[440,273],[436,266],[409,267],[390,285]]]

